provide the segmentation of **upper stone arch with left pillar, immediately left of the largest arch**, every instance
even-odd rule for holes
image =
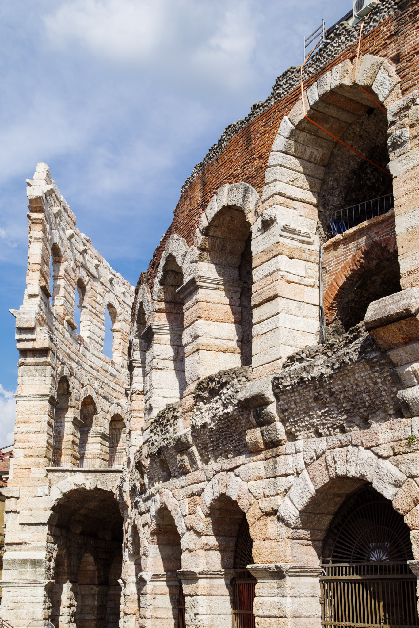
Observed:
[[[226,183],[200,217],[183,262],[185,283],[178,288],[187,317],[183,344],[188,385],[251,362],[251,225],[259,203],[248,183]]]

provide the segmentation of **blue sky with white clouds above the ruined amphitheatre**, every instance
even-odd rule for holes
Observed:
[[[351,0],[0,3],[0,445],[13,440],[26,178],[48,163],[77,227],[135,284],[180,188],[230,122]],[[7,442],[6,442],[7,441]]]

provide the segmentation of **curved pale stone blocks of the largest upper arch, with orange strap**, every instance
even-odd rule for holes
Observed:
[[[361,111],[356,105],[376,108],[359,87],[385,108],[401,98],[400,78],[394,63],[373,55],[360,58],[356,83],[355,69],[356,63],[349,59],[339,63],[304,92],[305,113],[300,98],[290,114],[283,117],[269,156],[263,202],[278,195],[291,202],[318,204],[324,166],[335,140],[305,116],[340,139]]]

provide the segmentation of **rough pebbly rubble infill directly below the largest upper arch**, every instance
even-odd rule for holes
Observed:
[[[337,343],[291,355],[273,377],[285,430],[313,438],[401,417],[391,367],[363,323]]]

